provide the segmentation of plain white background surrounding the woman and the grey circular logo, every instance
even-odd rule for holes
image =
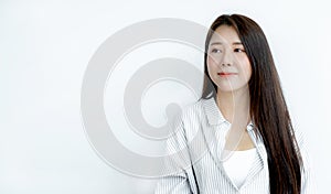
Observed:
[[[79,95],[88,61],[107,37],[138,21],[167,17],[209,26],[217,15],[235,12],[264,29],[295,126],[306,136],[318,193],[328,193],[328,4],[321,0],[1,0],[0,193],[151,193],[153,180],[111,169],[85,136]]]

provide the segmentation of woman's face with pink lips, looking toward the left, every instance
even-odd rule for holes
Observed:
[[[218,91],[237,91],[245,88],[252,67],[236,31],[221,25],[212,35],[207,51],[207,72]]]

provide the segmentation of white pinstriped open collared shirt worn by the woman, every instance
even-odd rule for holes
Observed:
[[[162,170],[166,176],[157,184],[156,194],[166,193],[222,193],[222,194],[268,194],[269,174],[267,152],[252,122],[247,131],[255,143],[258,158],[253,162],[246,181],[237,187],[226,175],[220,153],[225,144],[225,134],[229,129],[213,98],[201,99],[186,107],[173,127],[174,134],[167,141],[167,155],[180,154],[167,160]],[[310,186],[310,173],[301,133],[297,133],[302,154],[301,193],[313,193]],[[244,161],[243,161],[244,162]],[[303,170],[305,169],[305,170]]]

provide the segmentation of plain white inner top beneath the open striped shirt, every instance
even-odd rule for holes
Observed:
[[[233,151],[233,154],[223,162],[226,174],[237,187],[241,187],[245,182],[256,158],[257,151],[256,148],[254,148],[243,151]]]

